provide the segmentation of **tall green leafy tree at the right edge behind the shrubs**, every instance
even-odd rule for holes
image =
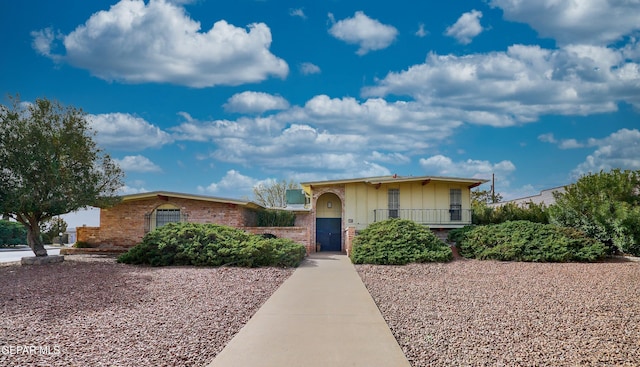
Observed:
[[[554,196],[551,223],[578,228],[612,251],[640,255],[640,171],[585,175]]]

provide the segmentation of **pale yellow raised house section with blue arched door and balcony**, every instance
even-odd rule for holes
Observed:
[[[310,208],[311,241],[349,252],[357,231],[388,218],[434,230],[471,224],[471,189],[488,180],[398,175],[301,183]]]

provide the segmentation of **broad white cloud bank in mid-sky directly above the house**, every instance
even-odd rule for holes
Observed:
[[[446,112],[413,102],[319,95],[304,106],[237,121],[200,122],[183,114],[187,121],[172,132],[176,140],[211,142],[212,151],[201,159],[301,177],[315,170],[353,176],[389,172],[382,165],[408,163],[447,139],[461,122],[445,118]]]

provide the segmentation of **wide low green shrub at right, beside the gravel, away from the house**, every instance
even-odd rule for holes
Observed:
[[[596,261],[607,252],[604,244],[579,230],[529,221],[475,227],[461,236],[457,247],[466,258],[503,261]]]

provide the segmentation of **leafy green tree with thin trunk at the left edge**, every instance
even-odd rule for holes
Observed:
[[[27,228],[47,256],[40,224],[87,205],[115,204],[123,172],[94,141],[86,115],[46,98],[0,105],[0,213]]]

